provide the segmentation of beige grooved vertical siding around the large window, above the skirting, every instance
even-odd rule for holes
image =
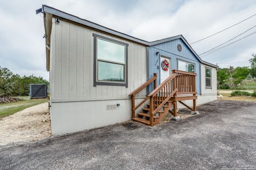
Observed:
[[[53,19],[54,21],[54,19]],[[93,33],[128,43],[128,88],[93,87]],[[147,81],[146,46],[132,43],[79,25],[53,23],[51,35],[51,100],[128,98]],[[146,89],[138,97],[146,96]]]

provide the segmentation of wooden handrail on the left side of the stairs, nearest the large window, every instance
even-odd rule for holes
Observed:
[[[144,100],[142,100],[137,106],[135,106],[135,95],[138,94],[141,90],[146,88],[151,82],[154,81],[154,89],[156,88],[156,80],[157,80],[157,73],[154,73],[154,76],[149,79],[147,82],[142,84],[138,89],[133,91],[129,96],[132,99],[132,118],[135,118],[135,111],[143,104],[145,103],[149,97],[147,96]]]

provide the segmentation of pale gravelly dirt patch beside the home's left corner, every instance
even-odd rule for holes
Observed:
[[[33,142],[50,135],[51,121],[47,103],[0,118],[0,145]]]

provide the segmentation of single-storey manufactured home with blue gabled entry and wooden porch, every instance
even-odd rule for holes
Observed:
[[[52,134],[128,120],[151,126],[167,112],[217,99],[217,65],[186,39],[135,38],[43,5]]]

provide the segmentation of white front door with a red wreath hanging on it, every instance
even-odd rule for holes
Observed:
[[[160,57],[160,83],[171,75],[171,60],[170,58]]]

